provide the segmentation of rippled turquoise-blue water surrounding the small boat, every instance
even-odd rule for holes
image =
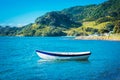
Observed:
[[[36,49],[92,54],[88,61],[47,61]],[[120,42],[0,37],[0,80],[120,80]]]

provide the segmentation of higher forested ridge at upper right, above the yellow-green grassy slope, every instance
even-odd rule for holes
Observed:
[[[120,1],[109,0],[99,5],[76,6],[61,12],[70,14],[75,21],[91,21],[107,16],[120,19]]]

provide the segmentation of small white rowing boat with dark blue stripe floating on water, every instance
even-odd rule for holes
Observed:
[[[36,51],[37,55],[42,58],[42,59],[49,59],[49,60],[87,60],[88,57],[90,56],[90,52],[79,52],[79,54],[64,54],[64,53],[59,53],[60,55],[49,55],[48,52],[46,53],[42,53],[41,51]],[[62,56],[61,56],[62,55]]]

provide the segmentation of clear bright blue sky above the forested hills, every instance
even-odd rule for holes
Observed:
[[[0,25],[23,26],[50,11],[100,4],[106,0],[0,0]]]

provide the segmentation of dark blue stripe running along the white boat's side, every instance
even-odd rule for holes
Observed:
[[[50,56],[59,56],[59,57],[77,57],[77,56],[85,56],[85,55],[90,55],[91,53],[87,53],[87,54],[58,54],[58,53],[51,53],[51,52],[44,52],[44,51],[39,51],[36,50],[36,52],[42,53],[42,54],[46,54],[46,55],[50,55]]]

